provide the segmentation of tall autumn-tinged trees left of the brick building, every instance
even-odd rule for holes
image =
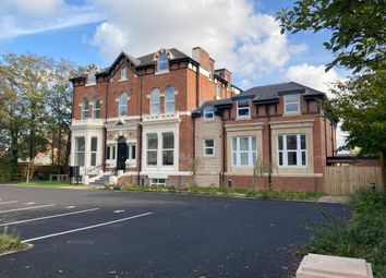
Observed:
[[[2,159],[9,161],[13,178],[19,161],[26,158],[33,177],[35,157],[46,150],[50,135],[57,136],[61,149],[62,135],[69,133],[71,121],[68,80],[73,69],[64,60],[56,62],[44,56],[1,56],[0,150],[4,153]]]

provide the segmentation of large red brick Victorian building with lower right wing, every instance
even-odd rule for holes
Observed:
[[[71,165],[85,183],[186,185],[194,161],[200,185],[252,186],[262,161],[277,171],[260,186],[322,189],[335,149],[322,92],[293,82],[241,92],[198,47],[192,57],[122,52],[111,67],[91,67],[71,82]]]

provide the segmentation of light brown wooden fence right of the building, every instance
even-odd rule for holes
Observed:
[[[331,195],[348,195],[355,190],[375,183],[383,191],[382,168],[376,166],[326,166],[324,192]]]

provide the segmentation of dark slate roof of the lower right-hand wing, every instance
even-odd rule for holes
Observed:
[[[287,82],[287,83],[278,83],[265,86],[256,86],[250,89],[244,90],[240,95],[234,98],[253,98],[255,102],[266,102],[266,101],[276,101],[279,99],[280,95],[300,93],[303,94],[304,97],[315,97],[319,96],[322,98],[326,97],[326,94],[299,84],[297,82]]]

